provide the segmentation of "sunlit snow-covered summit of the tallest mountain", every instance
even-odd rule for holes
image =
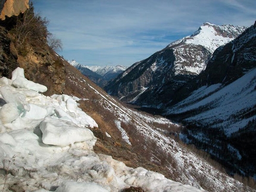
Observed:
[[[202,59],[205,57],[204,52],[193,51],[196,50],[195,46],[202,46],[210,52],[210,55],[220,46],[226,45],[239,34],[241,34],[246,28],[232,25],[217,26],[211,23],[202,24],[199,29],[191,36],[184,37],[176,42],[170,43],[167,47],[173,48],[176,53],[176,61],[174,62],[175,74],[199,74],[205,70],[207,60]],[[188,55],[188,49],[190,50],[190,57],[185,58],[184,55]],[[186,65],[185,60],[192,59],[190,65]]]

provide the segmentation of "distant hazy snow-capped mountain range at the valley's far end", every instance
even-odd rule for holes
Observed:
[[[68,61],[71,65],[77,68],[83,75],[87,76],[100,87],[104,87],[108,81],[117,77],[118,74],[122,73],[127,67],[122,65],[116,66],[88,66],[81,65],[75,60]]]

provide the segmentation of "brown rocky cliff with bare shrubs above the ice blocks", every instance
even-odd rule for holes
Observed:
[[[28,2],[6,1],[3,11],[10,8],[13,14],[18,14],[14,10],[25,10]],[[30,18],[29,22],[26,23],[24,15]],[[26,29],[30,30],[32,36],[26,35]],[[33,13],[33,7],[25,10],[24,14],[0,20],[0,77],[10,78],[11,71],[21,67],[28,80],[48,87],[46,95],[60,94],[65,88],[65,63],[68,64],[49,48],[46,22]]]

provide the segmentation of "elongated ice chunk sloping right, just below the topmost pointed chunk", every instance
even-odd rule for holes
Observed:
[[[29,81],[25,77],[21,77],[20,75],[18,75],[13,81],[13,86],[17,88],[34,90],[39,93],[43,93],[47,91],[46,86],[43,86],[42,84],[39,84],[39,83],[34,83],[33,81]]]

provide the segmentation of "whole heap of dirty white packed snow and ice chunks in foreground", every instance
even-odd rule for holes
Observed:
[[[18,71],[18,73],[16,73]],[[0,78],[1,189],[13,191],[201,191],[144,168],[96,154],[96,122],[68,95],[44,96],[18,68]],[[17,76],[15,76],[17,74]],[[22,78],[21,78],[22,77]],[[32,84],[29,86],[17,86]],[[16,84],[16,86],[14,85]]]

